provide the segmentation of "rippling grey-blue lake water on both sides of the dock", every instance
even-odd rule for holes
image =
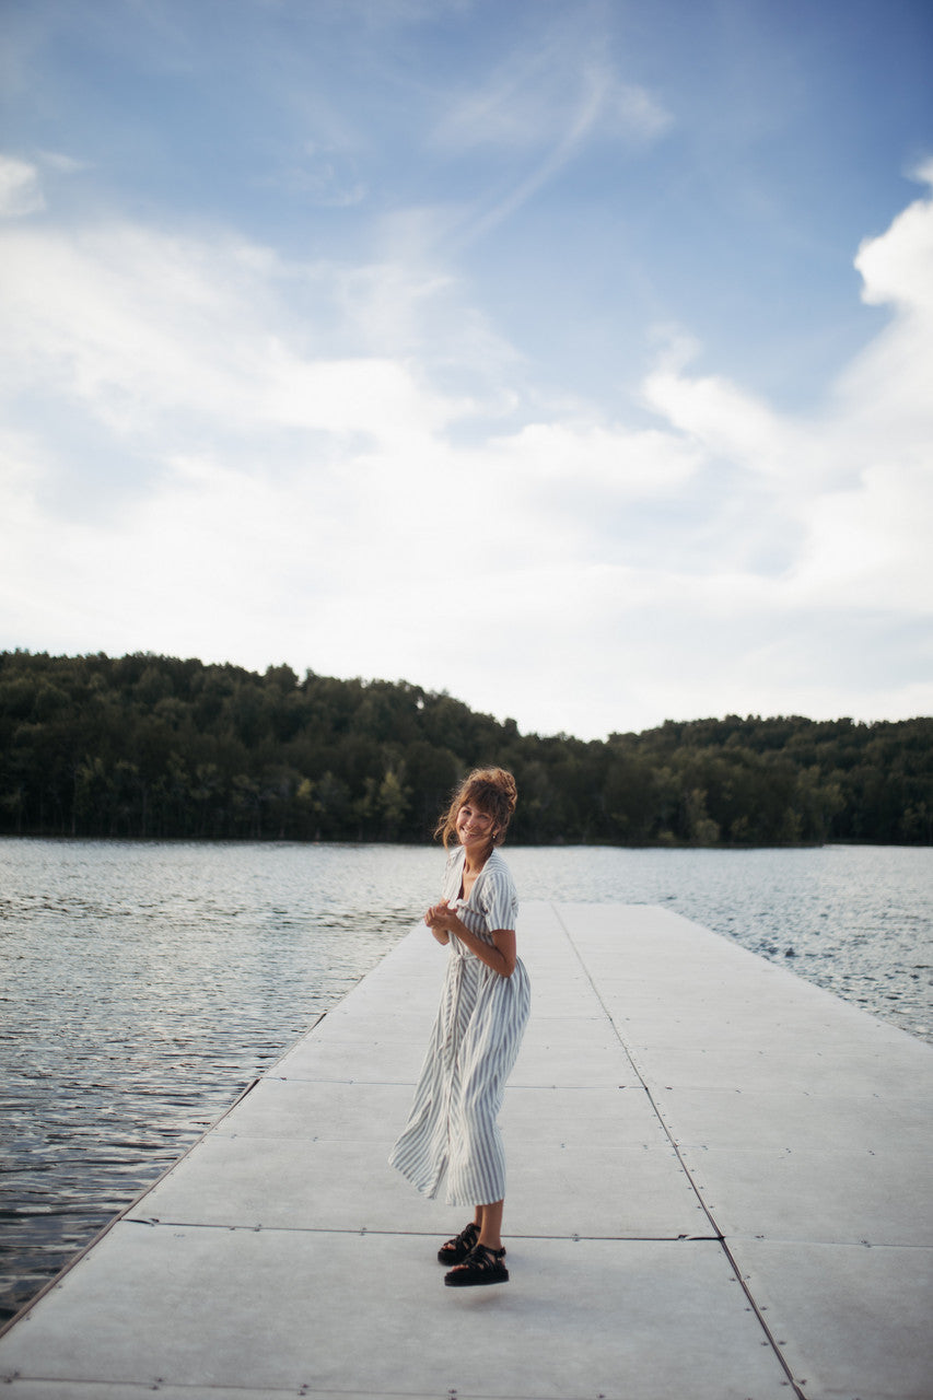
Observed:
[[[667,904],[933,1040],[930,848],[506,854],[525,899]],[[0,839],[0,1322],[408,932],[441,869],[410,846]]]

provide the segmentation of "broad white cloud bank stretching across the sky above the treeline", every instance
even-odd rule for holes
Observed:
[[[0,641],[405,676],[583,736],[929,708],[930,249],[929,200],[863,245],[891,319],[818,410],[675,347],[636,426],[542,416],[507,347],[483,378],[431,266],[7,225]],[[92,508],[62,511],[64,482]]]

